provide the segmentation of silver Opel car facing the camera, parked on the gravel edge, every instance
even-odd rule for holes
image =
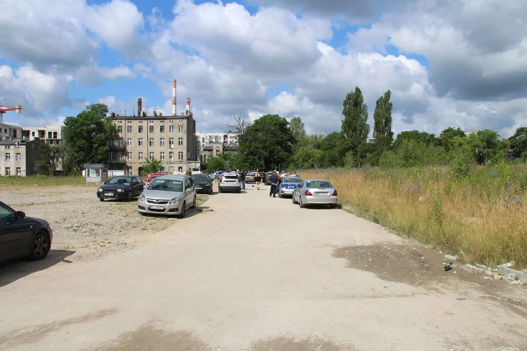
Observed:
[[[162,175],[155,178],[139,195],[137,210],[141,214],[185,216],[196,207],[196,186],[191,176]]]

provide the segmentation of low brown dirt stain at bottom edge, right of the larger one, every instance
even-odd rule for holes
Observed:
[[[253,344],[250,351],[354,351],[355,348],[339,346],[318,337],[295,339],[278,337]]]

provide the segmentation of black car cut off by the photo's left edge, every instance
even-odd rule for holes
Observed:
[[[43,259],[50,252],[52,239],[53,231],[44,219],[26,217],[0,201],[0,262]]]

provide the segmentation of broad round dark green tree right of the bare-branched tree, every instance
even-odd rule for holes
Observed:
[[[240,136],[239,153],[251,168],[278,168],[288,163],[295,143],[287,119],[265,115]]]

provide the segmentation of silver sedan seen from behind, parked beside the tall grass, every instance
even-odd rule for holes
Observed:
[[[293,203],[306,205],[329,205],[337,207],[337,189],[326,179],[304,179],[293,190]]]

